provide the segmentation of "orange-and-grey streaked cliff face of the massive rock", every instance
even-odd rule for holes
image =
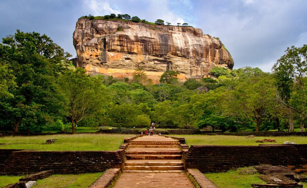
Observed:
[[[186,80],[207,77],[215,66],[234,65],[220,40],[192,27],[81,18],[73,43],[77,66],[89,73],[132,78],[142,68],[153,83],[166,70],[178,71],[177,77]]]

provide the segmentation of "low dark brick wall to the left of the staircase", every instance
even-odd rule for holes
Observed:
[[[8,153],[0,149],[1,153]],[[0,174],[30,174],[52,170],[55,174],[103,172],[122,168],[125,149],[116,151],[13,151],[0,163]]]

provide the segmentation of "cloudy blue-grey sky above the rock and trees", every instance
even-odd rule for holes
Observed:
[[[129,14],[201,28],[220,38],[235,69],[271,72],[287,47],[307,44],[306,10],[306,0],[0,0],[0,37],[17,29],[46,34],[74,58],[79,17]]]

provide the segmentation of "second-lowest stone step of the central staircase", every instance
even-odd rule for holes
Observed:
[[[126,160],[125,166],[183,166],[182,160]]]

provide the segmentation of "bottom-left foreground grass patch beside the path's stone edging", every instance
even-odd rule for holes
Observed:
[[[48,178],[37,180],[37,185],[33,188],[87,188],[102,173],[78,174],[78,175],[52,175]]]

